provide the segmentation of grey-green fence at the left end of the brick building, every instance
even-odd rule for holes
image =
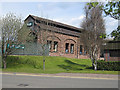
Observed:
[[[12,55],[40,55],[48,56],[48,45],[42,45],[40,43],[25,43],[14,47]]]

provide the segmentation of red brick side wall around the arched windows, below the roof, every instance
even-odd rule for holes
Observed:
[[[43,33],[43,31],[41,31]],[[52,44],[52,50],[49,53],[50,56],[62,56],[62,57],[69,57],[69,58],[80,58],[80,59],[87,59],[88,56],[86,55],[80,55],[79,54],[79,38],[69,35],[64,35],[60,33],[53,33],[53,32],[46,32],[47,33],[47,40],[57,41],[58,42],[58,51],[53,52],[53,44]],[[38,42],[41,43],[40,40],[42,40],[43,34],[41,34],[41,37],[38,36]],[[65,44],[69,43],[69,53],[65,52]],[[70,45],[74,44],[74,53],[70,53]]]

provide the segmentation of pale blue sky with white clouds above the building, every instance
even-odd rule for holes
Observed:
[[[86,2],[1,2],[0,16],[14,13],[24,20],[29,14],[58,21],[80,28],[85,17]],[[109,34],[118,26],[118,21],[107,16],[106,33]]]

